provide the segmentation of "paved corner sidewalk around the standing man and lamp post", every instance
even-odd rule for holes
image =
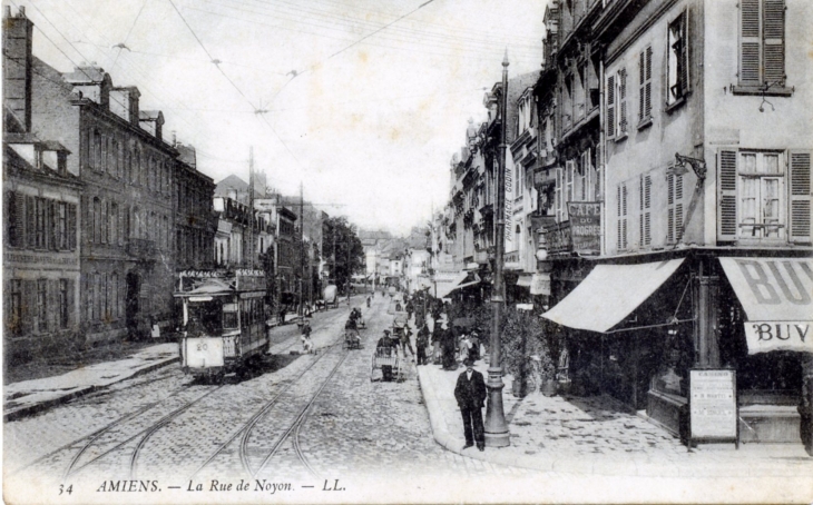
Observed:
[[[487,365],[474,368],[487,377]],[[580,475],[643,477],[802,477],[813,482],[813,457],[799,444],[701,445],[688,452],[668,433],[623,412],[606,397],[546,397],[535,392],[522,399],[506,376],[503,408],[511,434],[509,447],[462,449],[463,423],[454,400],[458,372],[418,367],[434,439],[447,449],[496,464]],[[483,409],[483,416],[486,409]]]

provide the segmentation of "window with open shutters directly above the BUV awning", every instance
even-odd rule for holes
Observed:
[[[810,242],[810,151],[722,150],[717,166],[719,240]]]

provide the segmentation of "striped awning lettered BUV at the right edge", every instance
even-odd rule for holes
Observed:
[[[748,354],[813,353],[813,259],[719,258],[745,310]]]

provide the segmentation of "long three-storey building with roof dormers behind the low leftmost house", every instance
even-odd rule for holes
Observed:
[[[78,303],[85,341],[172,327],[175,206],[183,185],[206,190],[205,176],[176,180],[179,152],[164,139],[163,113],[139,109],[137,88],[114,86],[94,66],[56,70],[31,53],[32,23],[25,11],[12,18],[7,10],[6,19],[16,40],[6,44],[4,59],[27,69],[17,76],[10,108],[30,105],[25,120],[71,152],[66,172],[82,182]]]

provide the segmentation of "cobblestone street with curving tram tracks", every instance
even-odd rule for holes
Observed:
[[[382,475],[442,482],[528,474],[438,445],[409,358],[403,382],[371,380],[372,349],[391,324],[385,305],[378,299],[368,311],[360,350],[342,349],[342,307],[314,318],[316,354],[291,354],[300,345],[290,325],[274,330],[274,356],[222,386],[197,384],[172,365],[7,423],[7,478],[88,491],[110,478],[320,486]]]

